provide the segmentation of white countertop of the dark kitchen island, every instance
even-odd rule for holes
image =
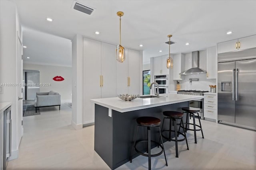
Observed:
[[[121,113],[139,109],[146,109],[156,106],[164,106],[168,104],[175,104],[180,102],[187,102],[190,100],[202,99],[204,96],[186,95],[186,94],[164,94],[160,98],[136,98],[132,101],[124,101],[120,98],[101,98],[91,99],[95,104],[108,107],[110,109],[119,111]]]

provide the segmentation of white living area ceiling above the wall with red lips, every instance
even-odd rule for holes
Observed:
[[[72,66],[70,39],[23,27],[23,62],[57,66]],[[30,57],[30,59],[27,59]]]

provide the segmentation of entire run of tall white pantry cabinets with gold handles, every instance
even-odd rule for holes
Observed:
[[[126,49],[126,59],[119,63],[115,49],[115,45],[83,38],[83,124],[94,122],[90,99],[140,94],[140,51]]]

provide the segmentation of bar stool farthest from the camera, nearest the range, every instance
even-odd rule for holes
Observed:
[[[195,143],[197,143],[196,131],[201,131],[202,132],[202,137],[204,139],[203,129],[202,129],[201,121],[200,121],[200,118],[199,118],[199,113],[198,113],[198,111],[200,111],[200,109],[196,109],[194,107],[182,107],[182,110],[185,113],[187,113],[186,123],[184,123],[186,125],[186,127],[185,127],[186,132],[187,132],[187,130],[194,131]],[[198,115],[199,125],[196,125],[195,113],[197,113],[197,115]],[[193,117],[193,123],[188,123],[188,114],[190,115],[190,119],[191,119],[191,116]],[[193,125],[194,129],[189,129],[188,125]],[[196,129],[196,127],[199,127],[200,129]]]

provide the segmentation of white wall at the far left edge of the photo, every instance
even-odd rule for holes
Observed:
[[[17,83],[17,31],[22,38],[22,31],[16,4],[0,0],[0,83]],[[21,120],[18,120],[17,87],[4,86],[0,102],[12,102],[12,156],[18,158]],[[20,113],[21,114],[21,113]]]

